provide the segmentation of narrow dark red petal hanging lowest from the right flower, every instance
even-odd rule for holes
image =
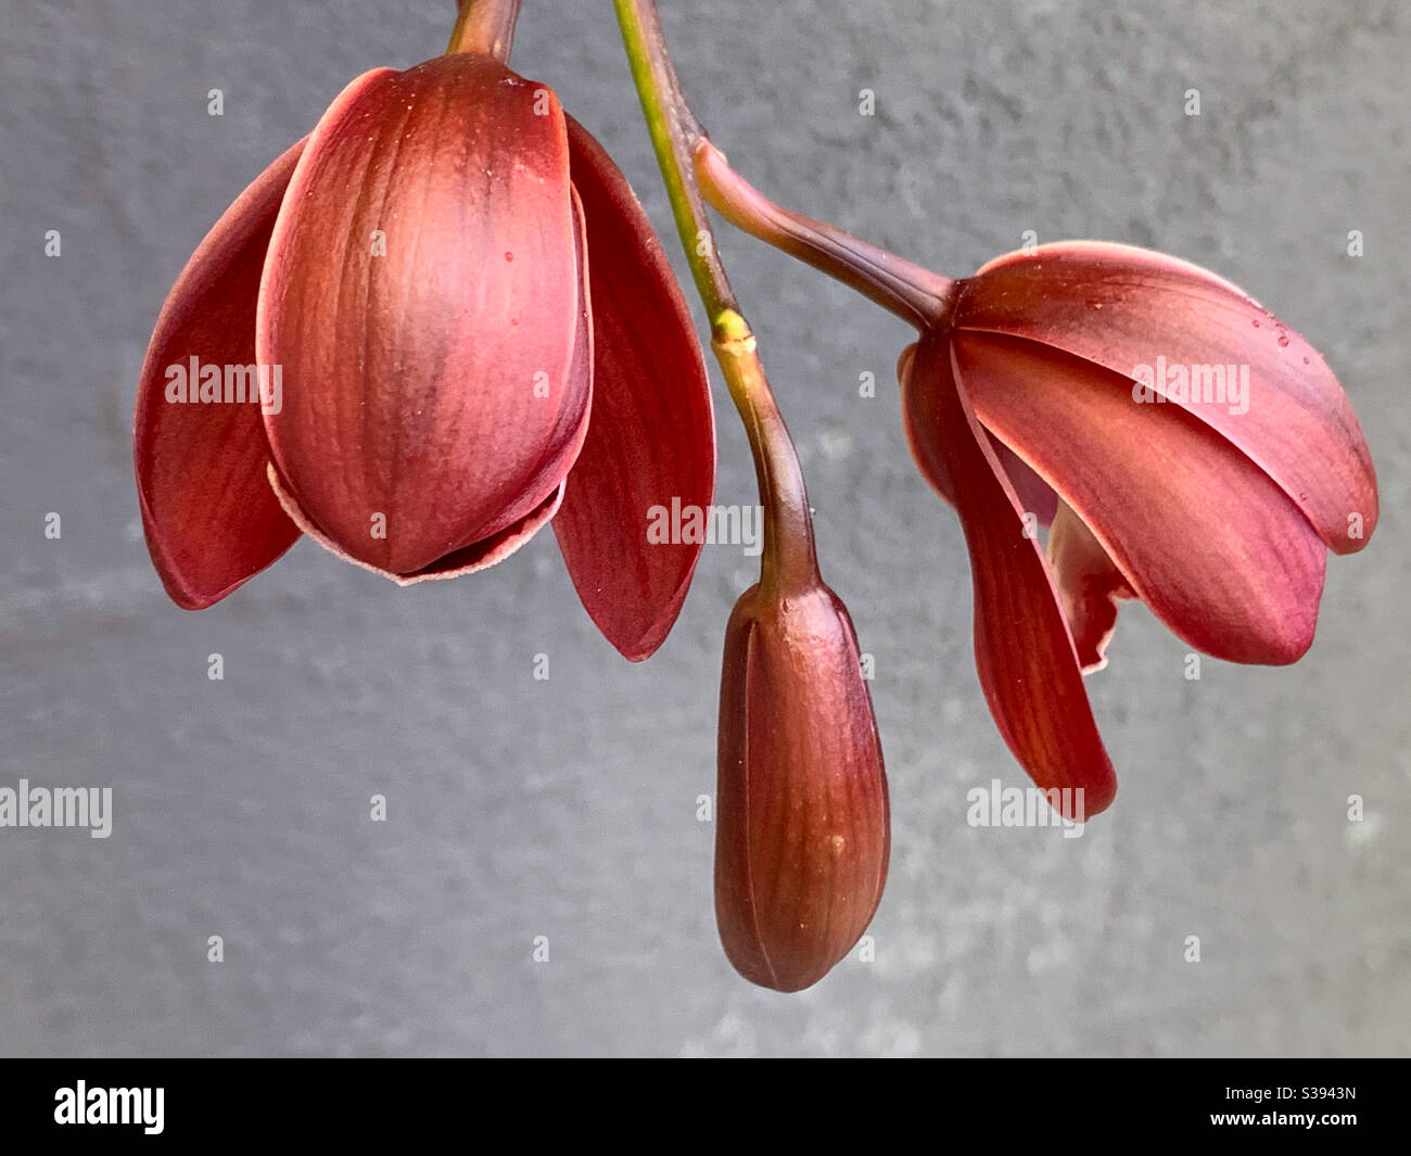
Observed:
[[[1053,577],[971,408],[947,332],[921,339],[902,383],[907,442],[921,473],[952,493],[975,586],[975,665],[999,733],[1067,817],[1106,809],[1116,775],[1098,734]],[[1084,816],[1075,812],[1082,810]]]

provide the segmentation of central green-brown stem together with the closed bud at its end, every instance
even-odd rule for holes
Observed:
[[[759,584],[735,603],[721,666],[715,923],[735,970],[799,991],[852,950],[882,899],[886,771],[856,631],[823,583],[803,473],[715,250],[682,96],[652,0],[615,0],[711,347],[765,507]]]

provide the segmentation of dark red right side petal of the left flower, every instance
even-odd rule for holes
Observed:
[[[593,411],[553,519],[594,622],[626,658],[648,658],[686,598],[700,542],[649,542],[653,510],[707,510],[715,488],[710,383],[662,244],[612,159],[567,119],[583,199],[593,299]]]

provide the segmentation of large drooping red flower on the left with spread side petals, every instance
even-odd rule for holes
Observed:
[[[549,519],[628,658],[666,637],[708,507],[700,344],[641,205],[543,85],[454,52],[374,69],[220,217],[162,309],[134,428],[171,597],[223,598],[301,532],[398,583]]]

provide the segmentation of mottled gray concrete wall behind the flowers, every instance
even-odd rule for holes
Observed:
[[[406,591],[302,542],[200,614],[147,560],[131,408],[168,287],[349,79],[440,51],[450,8],[3,7],[0,785],[111,785],[116,817],[107,841],[0,830],[0,1052],[1407,1054],[1405,8],[665,0],[700,117],[762,188],[951,275],[1024,229],[1211,265],[1325,353],[1381,480],[1298,666],[1187,682],[1182,644],[1127,608],[1091,682],[1115,807],[1079,840],[972,830],[969,786],[1026,779],[976,685],[958,525],[906,456],[906,330],[725,233],[825,576],[876,656],[892,783],[876,961],[796,997],[725,963],[696,820],[738,548],[707,549],[645,666],[595,634],[549,534]],[[516,68],[663,227],[611,6],[525,10]],[[717,500],[752,502],[718,383],[717,404]]]

